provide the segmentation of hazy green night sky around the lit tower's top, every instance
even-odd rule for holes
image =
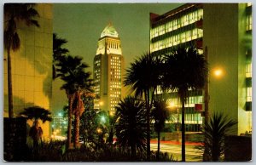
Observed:
[[[182,3],[54,3],[53,31],[67,39],[70,54],[79,55],[90,65],[96,55],[97,41],[109,22],[121,39],[125,66],[149,49],[149,13],[165,14]],[[56,83],[56,82],[55,82]],[[60,84],[53,85],[53,110],[67,104]]]

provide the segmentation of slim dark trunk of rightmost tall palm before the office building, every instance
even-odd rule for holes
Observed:
[[[186,162],[186,155],[185,155],[185,99],[182,96],[182,162]]]

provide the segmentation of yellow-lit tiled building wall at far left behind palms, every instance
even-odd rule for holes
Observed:
[[[11,51],[15,117],[26,107],[38,105],[51,110],[52,95],[52,4],[35,5],[40,27],[18,24],[20,49]],[[4,117],[8,117],[7,52],[4,51]],[[28,122],[32,126],[32,122]],[[49,138],[49,122],[40,123],[44,139]]]

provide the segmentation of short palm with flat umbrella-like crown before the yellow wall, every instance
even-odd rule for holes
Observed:
[[[42,141],[43,130],[39,126],[38,120],[42,120],[43,123],[51,121],[50,112],[39,106],[32,106],[25,108],[25,111],[20,112],[21,116],[25,116],[27,120],[32,120],[33,125],[29,131],[29,135],[33,139],[33,147],[38,147],[38,143]]]

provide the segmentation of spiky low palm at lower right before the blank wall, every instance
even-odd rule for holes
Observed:
[[[218,162],[224,154],[224,136],[234,131],[236,121],[223,113],[214,112],[209,122],[203,126],[205,135],[204,150],[207,148],[207,161]]]

